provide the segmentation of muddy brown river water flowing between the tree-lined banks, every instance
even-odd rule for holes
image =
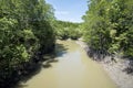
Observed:
[[[21,81],[17,88],[116,88],[102,66],[91,61],[74,41],[57,41],[50,67]]]

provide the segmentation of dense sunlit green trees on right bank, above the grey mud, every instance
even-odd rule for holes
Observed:
[[[89,0],[83,34],[89,55],[133,57],[133,0]]]

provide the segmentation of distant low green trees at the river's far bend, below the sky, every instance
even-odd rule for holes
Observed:
[[[81,23],[65,22],[65,21],[55,21],[55,32],[57,38],[60,40],[78,40],[81,37]]]

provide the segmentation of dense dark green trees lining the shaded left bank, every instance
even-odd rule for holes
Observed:
[[[0,0],[0,88],[53,51],[53,9],[44,0]]]

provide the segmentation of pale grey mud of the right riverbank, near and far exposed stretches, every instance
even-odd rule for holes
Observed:
[[[82,40],[76,41],[82,48],[86,50],[88,45]],[[108,73],[110,78],[119,86],[119,88],[133,88],[133,75],[126,74],[123,69],[126,67],[126,61],[116,58],[116,63],[111,62],[111,57],[105,57],[104,61],[100,62]]]

